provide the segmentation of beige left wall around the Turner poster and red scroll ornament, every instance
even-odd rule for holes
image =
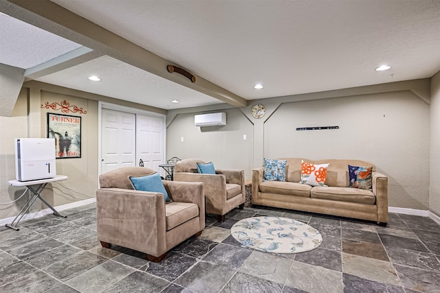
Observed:
[[[8,185],[8,180],[15,179],[14,139],[17,137],[47,137],[47,113],[63,114],[63,112],[41,106],[46,102],[60,104],[64,100],[71,106],[83,108],[87,113],[64,113],[65,115],[80,116],[82,119],[81,158],[56,159],[57,174],[66,175],[69,179],[47,185],[43,191],[43,198],[54,207],[95,198],[98,187],[98,101],[155,113],[165,113],[165,110],[162,109],[50,84],[25,83],[12,115],[10,117],[0,116],[0,202],[15,200],[25,190],[23,187]],[[17,215],[26,200],[28,200],[28,196],[24,196],[12,204],[0,204],[0,219]],[[36,200],[30,212],[46,208],[41,201]]]

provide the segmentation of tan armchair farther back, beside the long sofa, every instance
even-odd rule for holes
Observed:
[[[185,159],[175,164],[174,180],[186,182],[203,182],[206,197],[206,212],[219,215],[224,222],[225,213],[239,207],[245,202],[245,172],[233,169],[215,169],[216,174],[197,173],[199,159]]]

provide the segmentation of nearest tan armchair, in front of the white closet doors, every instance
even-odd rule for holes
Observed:
[[[128,176],[152,173],[144,167],[123,167],[101,174],[96,218],[102,246],[131,248],[158,262],[177,244],[201,234],[205,197],[203,183],[162,181],[173,200],[166,204],[163,194],[133,189]]]

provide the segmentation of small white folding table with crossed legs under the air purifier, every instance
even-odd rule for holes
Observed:
[[[23,209],[19,212],[17,217],[12,221],[11,224],[6,224],[8,228],[14,229],[15,231],[19,231],[20,228],[17,228],[17,225],[19,224],[21,218],[23,218],[23,215],[27,213],[32,206],[32,204],[35,202],[37,198],[39,198],[48,208],[52,209],[54,211],[54,215],[58,217],[67,218],[65,215],[60,215],[54,207],[52,207],[47,201],[44,200],[44,198],[41,197],[41,191],[45,189],[47,183],[61,181],[61,180],[67,180],[67,176],[64,175],[56,175],[54,178],[47,178],[47,179],[39,179],[39,180],[30,180],[30,181],[19,181],[19,180],[9,180],[9,185],[12,186],[25,186],[27,192],[28,190],[32,191],[32,194],[34,194],[31,198],[29,198],[28,202],[23,206]],[[17,222],[16,222],[17,221]]]

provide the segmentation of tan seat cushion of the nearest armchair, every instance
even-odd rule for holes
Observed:
[[[197,204],[187,202],[169,202],[165,205],[166,231],[183,224],[199,215]]]

